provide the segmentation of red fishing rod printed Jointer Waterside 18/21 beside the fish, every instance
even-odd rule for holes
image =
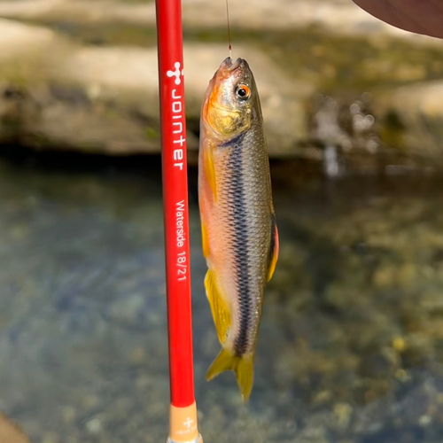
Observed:
[[[181,0],[156,0],[171,387],[169,443],[202,443],[194,397]]]

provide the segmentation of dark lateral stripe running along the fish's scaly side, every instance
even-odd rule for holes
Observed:
[[[237,269],[237,296],[240,309],[240,326],[238,336],[234,341],[237,355],[245,354],[248,346],[249,325],[252,320],[252,304],[250,299],[249,254],[247,237],[247,216],[245,190],[243,187],[243,156],[242,147],[237,143],[232,146],[229,156],[229,171],[231,174],[229,204],[232,206],[232,221],[234,226],[234,260]]]

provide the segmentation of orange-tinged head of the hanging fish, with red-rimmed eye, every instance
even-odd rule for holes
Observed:
[[[246,60],[237,58],[233,62],[228,57],[206,89],[202,119],[221,139],[238,136],[251,127],[258,100],[253,73]]]

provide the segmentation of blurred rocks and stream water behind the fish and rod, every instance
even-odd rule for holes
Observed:
[[[198,120],[229,55],[226,5],[184,0],[205,441],[440,443],[443,42],[351,0],[229,7],[233,57],[260,89],[281,252],[244,407],[231,373],[205,381],[219,345]],[[157,82],[153,2],[0,0],[0,409],[34,443],[167,437]]]

